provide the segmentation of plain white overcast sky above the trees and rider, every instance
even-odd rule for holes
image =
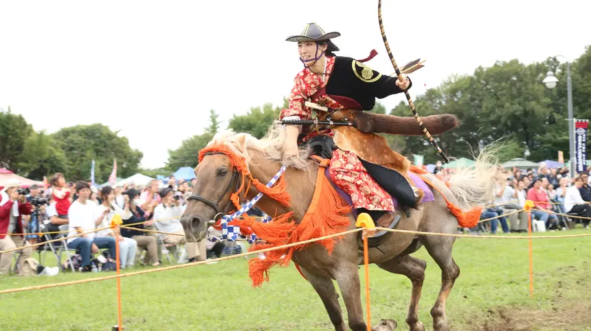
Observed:
[[[495,60],[574,60],[591,44],[588,0],[384,0],[382,9],[398,64],[427,59],[412,96]],[[376,49],[368,65],[392,72],[377,0],[2,1],[0,107],[35,130],[104,123],[144,152],[142,166],[161,167],[167,149],[203,132],[210,109],[225,127],[232,114],[282,103],[302,68],[285,38],[309,22],[342,34],[340,55]]]

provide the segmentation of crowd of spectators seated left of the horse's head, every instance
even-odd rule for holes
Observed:
[[[153,180],[145,187],[135,184],[92,187],[91,183],[67,182],[56,173],[49,180],[49,188],[33,185],[23,194],[18,181],[8,182],[0,191],[0,250],[23,247],[43,241],[38,232],[59,232],[67,225],[69,238],[66,245],[79,257],[79,271],[96,271],[96,266],[115,262],[115,245],[119,245],[120,267],[135,267],[135,261],[145,251],[140,265],[157,266],[167,249],[178,248],[177,262],[194,262],[221,256],[223,243],[206,247],[201,243],[188,243],[180,223],[186,208],[190,187],[196,180],[177,181],[174,176],[164,183]],[[129,229],[109,228],[115,214],[120,215]],[[96,229],[96,232],[91,232]],[[144,232],[155,230],[167,234]],[[52,237],[56,234],[52,235]],[[118,241],[117,239],[118,238]],[[221,244],[221,245],[220,245]],[[104,251],[101,252],[101,249]],[[24,260],[34,252],[32,247],[18,252],[0,254],[0,274],[10,271],[14,254],[19,260],[17,270],[23,269]],[[66,262],[67,263],[67,262]],[[64,265],[64,270],[68,265]]]

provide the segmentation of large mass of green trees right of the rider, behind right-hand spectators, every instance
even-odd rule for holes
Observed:
[[[559,66],[557,88],[542,84],[548,68]],[[518,60],[478,67],[473,75],[452,76],[441,86],[427,90],[414,100],[422,117],[430,114],[455,114],[457,127],[436,136],[449,156],[469,157],[484,145],[503,140],[506,146],[500,158],[523,157],[526,147],[531,160],[557,159],[557,151],[568,153],[566,101],[566,64],[555,59],[546,63],[522,64]],[[575,117],[591,116],[591,47],[572,63],[572,97]],[[406,103],[391,114],[410,116]],[[428,129],[428,127],[427,127]],[[423,154],[425,163],[440,157],[422,136],[406,136],[401,153]]]

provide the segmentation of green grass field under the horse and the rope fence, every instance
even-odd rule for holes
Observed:
[[[578,233],[590,232],[550,232],[548,236]],[[535,297],[531,299],[526,240],[456,241],[454,258],[461,274],[447,300],[451,328],[591,330],[590,250],[590,237],[534,240]],[[424,248],[413,255],[427,261],[419,319],[431,330],[429,311],[441,273]],[[363,275],[362,267],[359,271]],[[0,278],[0,289],[109,274],[5,277]],[[333,330],[322,302],[293,264],[272,269],[271,281],[262,289],[252,288],[244,258],[137,275],[121,282],[126,330]],[[404,319],[410,281],[372,266],[370,285],[373,323],[393,318],[398,330],[408,330]],[[0,295],[0,330],[111,330],[117,323],[115,295],[115,280]]]

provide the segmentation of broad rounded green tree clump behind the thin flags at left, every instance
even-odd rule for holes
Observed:
[[[96,182],[106,182],[117,159],[117,175],[129,177],[137,173],[144,154],[129,147],[129,140],[117,136],[102,124],[65,127],[53,134],[57,147],[67,158],[67,180],[88,180],[91,162],[95,160]]]

